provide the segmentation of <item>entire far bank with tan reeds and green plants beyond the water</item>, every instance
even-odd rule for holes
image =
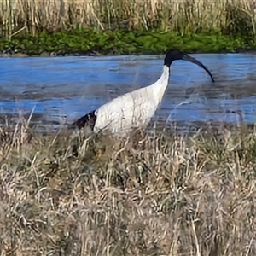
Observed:
[[[253,1],[0,1],[0,50],[26,55],[255,49]]]

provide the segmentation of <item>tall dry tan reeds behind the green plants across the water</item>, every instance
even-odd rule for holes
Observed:
[[[0,26],[5,33],[73,27],[189,29],[255,32],[255,3],[248,0],[1,0]]]

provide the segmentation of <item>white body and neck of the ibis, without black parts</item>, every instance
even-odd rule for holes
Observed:
[[[169,67],[164,66],[163,73],[154,84],[133,90],[119,96],[96,110],[94,131],[108,130],[113,133],[129,131],[147,126],[168,86]]]

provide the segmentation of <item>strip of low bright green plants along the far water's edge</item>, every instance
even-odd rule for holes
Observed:
[[[26,55],[129,55],[163,54],[172,47],[188,53],[237,52],[256,49],[256,38],[220,32],[180,35],[175,32],[70,32],[26,34],[0,40],[0,51]]]

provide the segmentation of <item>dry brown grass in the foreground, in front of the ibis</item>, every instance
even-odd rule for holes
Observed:
[[[3,255],[255,255],[254,131],[1,132]]]

